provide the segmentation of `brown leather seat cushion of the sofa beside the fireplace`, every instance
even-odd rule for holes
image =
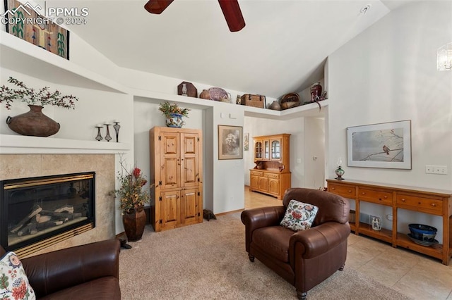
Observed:
[[[62,289],[61,291],[48,294],[40,298],[52,300],[70,300],[70,299],[109,299],[120,300],[121,291],[119,289],[119,282],[116,277],[107,276],[96,280],[91,280],[81,285]]]

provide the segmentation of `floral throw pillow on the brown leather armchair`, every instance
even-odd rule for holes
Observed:
[[[319,208],[296,200],[290,200],[280,225],[291,230],[307,230],[311,228]]]

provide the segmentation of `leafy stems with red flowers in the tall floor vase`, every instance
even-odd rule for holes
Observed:
[[[127,169],[122,156],[120,156],[119,164],[121,171],[118,171],[117,178],[121,182],[121,187],[114,190],[112,194],[119,196],[121,210],[124,213],[130,213],[133,209],[150,201],[149,192],[143,189],[148,180],[145,179],[145,175],[139,168]]]

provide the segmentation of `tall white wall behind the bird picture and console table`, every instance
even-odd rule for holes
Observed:
[[[452,41],[451,11],[451,1],[408,4],[328,58],[327,177],[347,157],[347,127],[411,120],[412,170],[345,165],[345,179],[452,189],[452,72],[436,70],[436,50]],[[448,175],[426,174],[425,165],[447,165]],[[441,227],[419,213],[399,219],[400,228],[415,220]]]

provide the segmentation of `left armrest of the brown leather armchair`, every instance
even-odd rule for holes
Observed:
[[[245,247],[247,252],[249,252],[249,245],[251,244],[254,230],[279,225],[284,213],[284,206],[267,206],[242,211],[240,217],[245,225]]]

